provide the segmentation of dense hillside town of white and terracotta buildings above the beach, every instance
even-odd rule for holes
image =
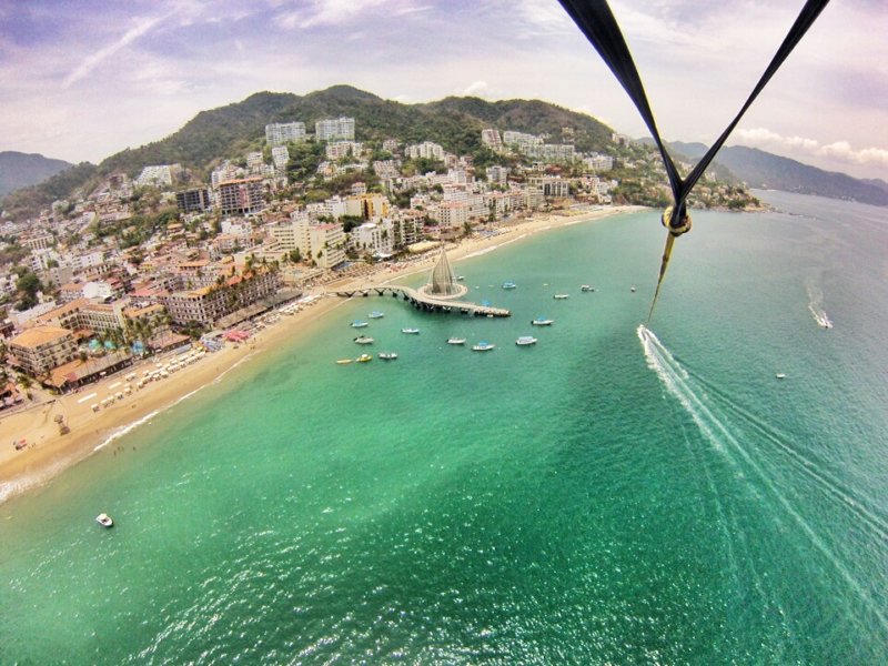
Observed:
[[[260,149],[218,161],[205,182],[149,164],[27,221],[4,218],[2,405],[34,386],[78,390],[145,355],[212,351],[225,330],[307,290],[441,242],[608,205],[619,174],[667,200],[655,155],[632,159],[618,135],[614,154],[582,153],[565,137],[485,129],[481,164],[432,141],[357,142],[353,118],[320,119],[313,133],[271,122]],[[700,191],[704,205],[748,203],[741,188]]]

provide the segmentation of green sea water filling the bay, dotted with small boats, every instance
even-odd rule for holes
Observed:
[[[759,194],[646,327],[658,212],[553,230],[0,505],[0,664],[888,663],[888,209]]]

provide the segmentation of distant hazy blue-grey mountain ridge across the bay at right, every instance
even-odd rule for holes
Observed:
[[[703,143],[675,141],[669,145],[695,160],[702,158],[707,150]],[[725,165],[750,188],[888,205],[888,183],[884,181],[864,181],[845,173],[824,171],[764,150],[743,145],[725,147],[718,151],[715,161]]]

